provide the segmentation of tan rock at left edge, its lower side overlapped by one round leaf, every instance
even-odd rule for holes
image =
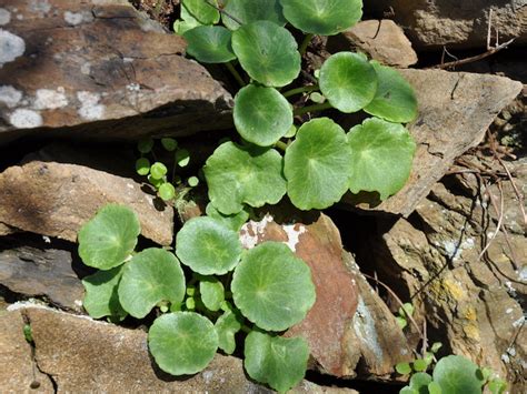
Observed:
[[[117,203],[136,211],[143,236],[161,245],[172,242],[173,210],[170,206],[142,191],[141,184],[132,179],[60,162],[67,161],[66,156],[74,162],[76,155],[79,162],[86,162],[76,151],[70,150],[69,154],[62,151],[60,156],[43,150],[23,164],[0,173],[0,223],[76,242],[81,225],[99,208]],[[107,159],[116,161],[116,155],[105,159],[105,154],[100,154],[96,161],[100,165]],[[128,163],[133,165],[132,161]]]

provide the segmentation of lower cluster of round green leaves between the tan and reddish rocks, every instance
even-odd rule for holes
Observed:
[[[310,270],[282,243],[243,251],[238,232],[247,216],[207,211],[210,215],[185,223],[176,253],[136,252],[136,213],[122,205],[102,208],[78,236],[82,261],[100,270],[82,281],[84,309],[112,321],[143,319],[156,309],[160,316],[150,327],[149,348],[173,375],[202,371],[218,348],[231,354],[236,334],[245,331],[247,372],[285,392],[304,377],[309,346],[277,333],[304,320],[314,305]]]

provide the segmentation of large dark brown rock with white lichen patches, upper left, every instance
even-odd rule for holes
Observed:
[[[127,1],[31,0],[0,11],[0,143],[29,132],[179,137],[231,123],[231,95],[181,55],[180,37]]]

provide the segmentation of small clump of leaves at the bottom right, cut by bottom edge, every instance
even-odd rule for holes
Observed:
[[[431,352],[424,358],[416,360],[412,365],[397,364],[398,373],[411,373],[409,384],[400,390],[400,394],[481,394],[484,388],[493,394],[503,394],[507,383],[494,376],[489,368],[479,368],[470,360],[460,355],[449,355],[440,358],[434,366],[431,375],[426,371],[431,367],[434,354],[440,343],[435,343]]]

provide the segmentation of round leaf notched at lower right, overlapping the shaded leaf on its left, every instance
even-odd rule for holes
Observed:
[[[178,304],[183,300],[183,270],[172,253],[146,249],[125,266],[118,293],[125,311],[142,319],[161,301]]]

